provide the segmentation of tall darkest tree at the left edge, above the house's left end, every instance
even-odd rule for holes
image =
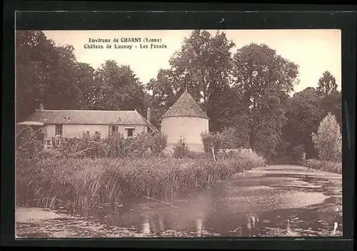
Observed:
[[[75,108],[76,58],[72,46],[57,46],[42,31],[16,31],[16,121],[45,108]]]

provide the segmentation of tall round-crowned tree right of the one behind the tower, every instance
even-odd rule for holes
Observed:
[[[256,43],[239,48],[233,56],[233,65],[233,88],[241,93],[251,148],[263,152],[274,149],[286,121],[284,104],[288,93],[298,84],[298,65],[265,44]],[[270,138],[262,138],[263,135]],[[271,150],[266,153],[270,154]]]

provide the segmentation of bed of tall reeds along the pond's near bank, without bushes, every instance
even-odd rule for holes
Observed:
[[[133,196],[173,200],[188,188],[206,188],[234,173],[263,165],[251,155],[213,161],[195,158],[41,158],[18,161],[16,204],[92,210]]]

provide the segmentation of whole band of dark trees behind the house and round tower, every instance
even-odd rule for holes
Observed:
[[[40,103],[48,109],[134,110],[160,128],[161,116],[187,88],[209,117],[213,132],[232,134],[230,147],[252,148],[267,158],[304,148],[315,157],[311,134],[331,113],[341,127],[341,91],[322,73],[316,88],[291,93],[299,66],[266,44],[235,48],[223,31],[196,30],[148,83],[130,66],[79,62],[71,45],[41,31],[16,31],[16,121]]]

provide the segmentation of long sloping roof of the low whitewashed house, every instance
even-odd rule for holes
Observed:
[[[18,125],[147,125],[157,130],[138,111],[42,110],[36,111]]]

